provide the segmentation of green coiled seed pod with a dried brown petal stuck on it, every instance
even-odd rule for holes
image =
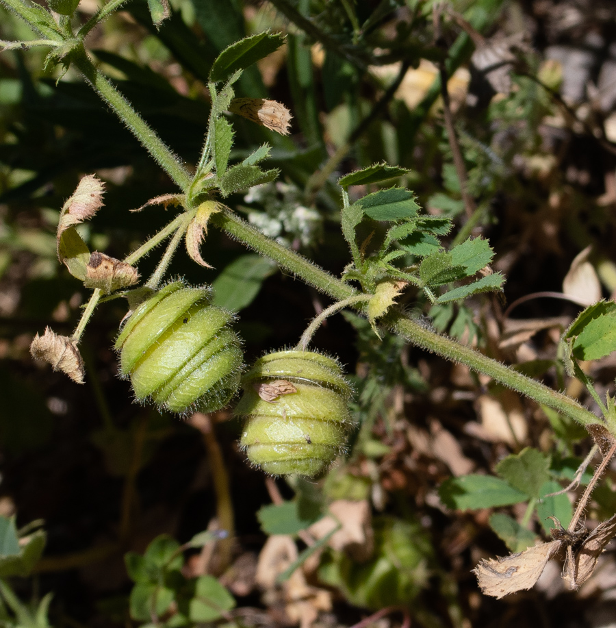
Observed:
[[[269,353],[255,362],[242,386],[235,408],[236,416],[246,417],[240,444],[266,473],[317,475],[344,451],[352,389],[331,357]]]

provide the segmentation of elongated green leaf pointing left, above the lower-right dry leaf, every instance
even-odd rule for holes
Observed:
[[[457,510],[510,506],[527,501],[528,495],[493,475],[462,475],[447,479],[439,488],[441,501]]]

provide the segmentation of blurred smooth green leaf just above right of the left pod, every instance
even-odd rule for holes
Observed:
[[[240,255],[214,279],[212,303],[216,307],[239,312],[253,302],[265,279],[276,271],[276,264],[261,255]]]

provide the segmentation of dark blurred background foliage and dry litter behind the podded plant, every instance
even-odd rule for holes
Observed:
[[[97,6],[82,0],[75,20]],[[270,142],[281,177],[227,204],[340,273],[348,250],[335,180],[381,160],[410,168],[405,184],[424,210],[455,221],[452,242],[489,238],[507,284],[502,300],[431,308],[411,292],[405,305],[423,324],[591,403],[565,379],[557,341],[577,303],[616,290],[613,3],[455,0],[443,16],[437,38],[429,0],[175,0],[157,29],[146,3],[130,0],[87,44],[195,164],[211,63],[243,36],[284,33],[285,47],[249,68],[236,92],[285,103],[292,134],[234,119],[231,155],[241,160]],[[0,38],[31,34],[0,8]],[[121,300],[88,326],[84,386],[34,364],[34,334],[45,325],[68,334],[88,298],[55,251],[58,210],[79,177],[96,173],[107,186],[105,208],[79,227],[92,250],[123,258],[173,212],[129,211],[171,192],[170,181],[77,73],[47,73],[43,60],[40,49],[0,55],[0,515],[13,522],[2,560],[13,558],[5,569],[0,561],[0,576],[12,576],[10,586],[0,581],[2,625],[307,628],[352,625],[376,611],[372,623],[383,628],[409,620],[485,628],[600,626],[613,617],[612,555],[577,596],[557,573],[511,600],[480,596],[470,569],[506,553],[504,542],[532,544],[545,513],[533,515],[534,494],[518,494],[495,519],[496,504],[463,503],[454,490],[457,478],[493,473],[525,447],[541,453],[550,486],[570,480],[589,450],[585,433],[465,368],[397,338],[378,340],[355,315],[331,318],[316,336],[353,375],[359,425],[348,458],[316,483],[246,466],[240,425],[227,411],[183,422],[133,405],[111,349],[127,309]],[[472,211],[444,125],[439,62]],[[248,364],[295,344],[328,305],[215,229],[203,254],[214,270],[181,253],[172,275],[213,283],[216,302],[240,313]],[[153,264],[144,260],[141,275]],[[613,358],[589,369],[600,390],[613,388]],[[589,518],[613,514],[615,480],[608,470]],[[570,503],[563,507],[566,517]],[[44,520],[47,546],[29,577],[42,533],[35,547],[14,516],[22,528]],[[194,541],[204,530],[209,536]]]

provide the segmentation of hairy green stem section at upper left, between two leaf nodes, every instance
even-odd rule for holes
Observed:
[[[94,67],[84,47],[81,46],[76,49],[72,60],[94,90],[114,110],[118,118],[127,125],[129,131],[142,143],[177,186],[182,191],[187,190],[192,180],[188,170],[148,123],[132,108],[131,103]]]

